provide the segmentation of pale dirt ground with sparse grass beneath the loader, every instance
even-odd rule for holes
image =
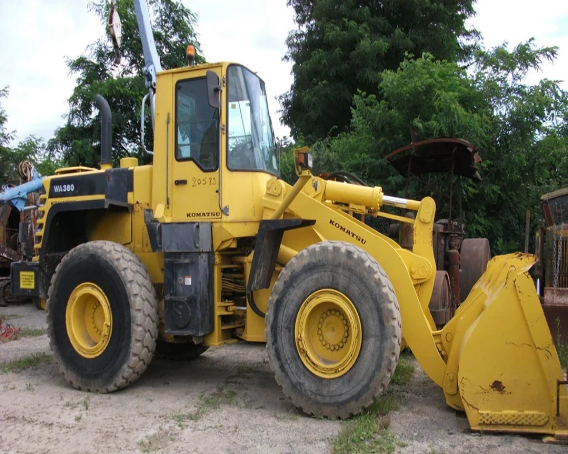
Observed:
[[[36,366],[0,373],[0,453],[329,453],[343,427],[287,401],[264,345],[211,348],[189,362],[154,359],[129,388],[91,394],[71,388],[49,362],[43,311],[9,306],[0,316],[28,334],[0,344],[0,363],[46,354]],[[395,394],[396,452],[566,452],[540,439],[469,432],[417,364]]]

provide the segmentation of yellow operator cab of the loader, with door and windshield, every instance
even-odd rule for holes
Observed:
[[[279,174],[264,82],[239,64],[193,65],[158,73],[157,92],[154,149],[169,151],[154,155],[152,205],[165,201],[176,222],[260,219]]]

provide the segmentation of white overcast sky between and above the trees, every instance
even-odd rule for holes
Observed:
[[[208,61],[236,61],[266,82],[274,130],[279,124],[278,95],[290,88],[290,64],[283,63],[285,40],[294,28],[286,0],[183,0],[198,15],[197,32]],[[545,65],[538,78],[566,80],[568,74],[568,1],[479,0],[471,24],[482,32],[486,47],[508,41],[513,46],[531,37],[539,46],[557,45],[558,60]],[[104,33],[86,0],[0,0],[0,100],[8,116],[7,130],[16,140],[34,134],[50,139],[64,124],[67,99],[75,78],[66,58],[81,55]],[[563,83],[564,88],[568,84]]]

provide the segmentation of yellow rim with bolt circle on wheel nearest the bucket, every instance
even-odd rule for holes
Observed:
[[[343,293],[321,289],[300,306],[295,324],[302,363],[321,378],[337,378],[353,367],[361,351],[361,319]]]

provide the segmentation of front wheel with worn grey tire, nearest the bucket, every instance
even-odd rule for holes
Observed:
[[[381,266],[342,241],[299,252],[274,284],[266,348],[283,393],[307,414],[348,418],[389,385],[400,352],[398,302]]]

